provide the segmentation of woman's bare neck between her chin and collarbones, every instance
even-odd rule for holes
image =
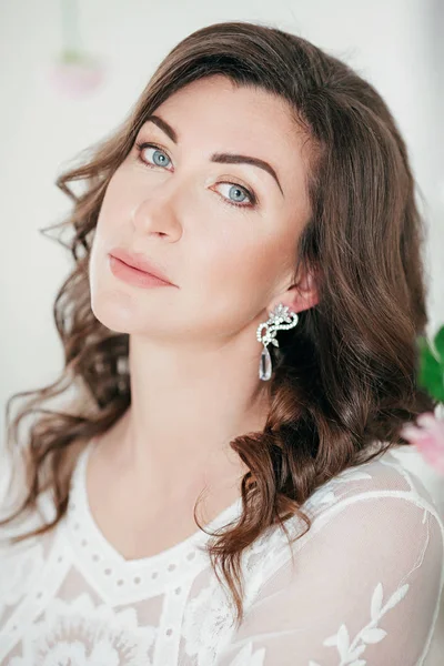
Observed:
[[[265,425],[261,351],[251,331],[206,347],[130,336],[131,405],[119,423],[115,456],[135,484],[173,493],[248,471],[230,441]]]

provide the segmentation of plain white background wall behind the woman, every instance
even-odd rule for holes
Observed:
[[[62,47],[59,1],[0,0],[0,433],[7,397],[52,382],[61,367],[52,304],[69,256],[38,232],[69,210],[54,185],[58,173],[121,122],[178,41],[223,20],[305,37],[383,94],[425,200],[430,332],[444,323],[444,2],[79,0],[78,7],[82,43],[104,62],[107,80],[91,97],[72,100],[49,82]],[[432,483],[440,490],[438,481]]]

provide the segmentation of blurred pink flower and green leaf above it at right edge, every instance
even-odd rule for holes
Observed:
[[[418,350],[418,383],[437,401],[437,411],[444,404],[444,326],[437,332],[433,344],[421,336]],[[416,424],[403,425],[401,436],[416,446],[423,458],[444,475],[444,418],[433,412],[424,412],[416,417]]]

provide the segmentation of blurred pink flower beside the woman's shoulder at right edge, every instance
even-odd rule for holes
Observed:
[[[433,412],[416,417],[416,424],[405,424],[401,436],[407,440],[437,472],[444,474],[444,421]]]

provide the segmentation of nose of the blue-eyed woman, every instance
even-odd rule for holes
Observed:
[[[132,223],[141,234],[162,236],[171,243],[182,236],[179,192],[173,179],[159,184],[134,206]]]

